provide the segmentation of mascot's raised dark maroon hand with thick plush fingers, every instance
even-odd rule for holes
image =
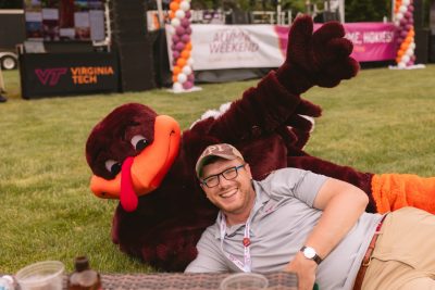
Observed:
[[[295,20],[288,34],[287,55],[278,68],[279,81],[294,93],[312,86],[332,88],[357,75],[359,64],[350,58],[353,45],[338,22],[328,22],[313,33],[311,16]]]

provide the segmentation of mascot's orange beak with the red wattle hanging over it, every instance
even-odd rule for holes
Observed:
[[[137,197],[157,189],[178,154],[181,129],[178,123],[165,115],[156,117],[154,140],[137,156],[127,157],[114,179],[94,175],[90,190],[99,198],[120,199],[127,212],[137,207]]]

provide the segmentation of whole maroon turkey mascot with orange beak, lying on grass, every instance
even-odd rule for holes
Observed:
[[[258,180],[278,168],[298,167],[361,188],[370,198],[368,212],[406,205],[434,212],[435,178],[361,173],[302,151],[311,123],[301,115],[318,117],[321,109],[300,94],[313,86],[335,87],[359,70],[344,36],[339,23],[313,33],[311,17],[298,17],[284,64],[222,115],[199,121],[183,135],[175,119],[138,103],[121,105],[97,124],[86,157],[92,192],[120,199],[113,242],[157,269],[184,270],[217,214],[199,186],[195,164],[207,146],[222,142],[240,150]]]

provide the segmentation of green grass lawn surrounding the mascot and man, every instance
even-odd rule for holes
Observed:
[[[44,260],[60,260],[70,272],[79,254],[102,273],[151,272],[110,240],[116,202],[88,188],[90,129],[126,102],[148,104],[187,128],[257,83],[201,85],[202,91],[184,94],[161,89],[23,100],[17,72],[3,74],[9,101],[0,104],[0,273]],[[366,70],[337,88],[310,90],[304,97],[324,112],[307,151],[366,172],[434,175],[434,76],[435,65]]]

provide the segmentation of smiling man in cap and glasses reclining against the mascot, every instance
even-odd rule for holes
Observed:
[[[186,273],[294,272],[300,290],[435,289],[435,216],[425,211],[365,213],[359,188],[297,168],[252,180],[226,143],[206,148],[196,172],[220,213]]]

